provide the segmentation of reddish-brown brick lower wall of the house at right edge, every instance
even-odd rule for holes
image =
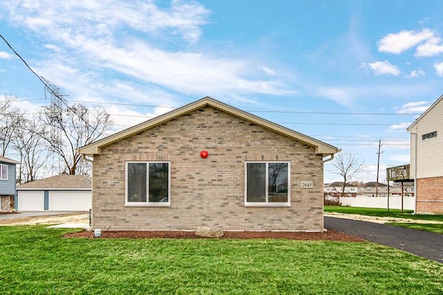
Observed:
[[[417,179],[417,213],[443,214],[443,177]]]

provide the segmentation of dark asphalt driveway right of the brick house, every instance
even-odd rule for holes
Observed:
[[[325,228],[393,247],[443,264],[443,236],[428,231],[325,216]]]

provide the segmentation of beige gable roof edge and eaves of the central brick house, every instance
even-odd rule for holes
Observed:
[[[228,114],[233,115],[235,117],[239,117],[242,120],[252,122],[253,124],[256,124],[258,126],[262,126],[266,129],[269,129],[269,130],[274,131],[276,133],[280,133],[280,134],[285,135],[287,137],[291,137],[294,140],[298,140],[300,142],[305,142],[306,144],[309,144],[310,146],[313,146],[315,148],[317,155],[322,155],[323,157],[325,157],[327,155],[334,155],[335,153],[338,153],[339,151],[341,151],[340,149],[337,149],[335,146],[326,144],[325,142],[321,142],[320,140],[316,140],[312,137],[309,137],[307,135],[303,135],[302,133],[298,133],[296,131],[293,131],[293,130],[288,129],[284,126],[275,124],[275,123],[270,122],[268,120],[264,120],[261,117],[257,117],[255,115],[250,114],[250,113],[246,113],[245,111],[240,111],[238,108],[234,108],[233,106],[229,106],[228,104],[224,104],[222,102],[219,102],[218,100],[213,99],[211,97],[204,97],[204,98],[199,99],[195,102],[187,104],[186,106],[182,106],[181,108],[177,108],[174,111],[170,111],[169,113],[159,115],[158,117],[155,117],[154,119],[151,119],[151,120],[145,121],[141,124],[137,124],[135,126],[129,127],[128,129],[125,129],[125,130],[115,133],[113,135],[109,135],[108,137],[105,137],[102,140],[92,142],[91,144],[88,144],[87,146],[82,146],[80,149],[78,149],[78,152],[83,155],[87,155],[89,157],[93,157],[93,155],[100,155],[100,149],[102,147],[105,147],[109,144],[113,144],[114,142],[118,142],[120,140],[123,140],[127,137],[135,135],[136,133],[140,133],[141,131],[145,131],[145,130],[150,129],[154,126],[157,126],[157,125],[162,124],[164,122],[170,121],[174,118],[185,115],[186,113],[196,111],[199,108],[203,108],[205,106],[211,106],[213,108],[218,109],[219,111],[224,111],[225,113],[228,113]]]

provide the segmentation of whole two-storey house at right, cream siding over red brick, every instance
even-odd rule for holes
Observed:
[[[416,213],[443,214],[443,95],[408,127],[408,132]]]

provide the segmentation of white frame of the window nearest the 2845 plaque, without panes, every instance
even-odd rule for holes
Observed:
[[[248,164],[266,164],[265,199],[266,202],[248,202]],[[269,202],[269,163],[288,164],[288,200],[287,202]],[[291,162],[289,161],[246,161],[244,162],[244,207],[291,207]]]

